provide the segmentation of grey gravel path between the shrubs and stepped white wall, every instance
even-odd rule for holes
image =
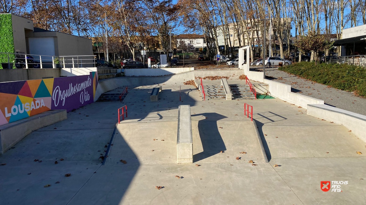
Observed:
[[[251,67],[250,70],[263,71],[263,68]],[[278,70],[276,67],[266,69],[266,78],[291,85],[292,92],[324,100],[324,103],[327,105],[366,115],[366,98],[355,96],[353,93],[299,78],[285,71]]]

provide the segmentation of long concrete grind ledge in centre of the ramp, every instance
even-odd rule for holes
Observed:
[[[179,105],[177,163],[193,163],[193,138],[190,105]]]

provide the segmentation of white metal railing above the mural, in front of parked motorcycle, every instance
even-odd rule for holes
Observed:
[[[34,55],[24,53],[1,53],[1,66],[7,68],[75,68],[96,67],[96,55]]]

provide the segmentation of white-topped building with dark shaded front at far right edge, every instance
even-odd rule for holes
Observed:
[[[343,29],[342,39],[333,45],[341,47],[341,56],[366,55],[366,24]]]

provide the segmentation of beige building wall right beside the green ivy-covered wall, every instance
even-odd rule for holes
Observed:
[[[27,53],[27,40],[26,30],[33,31],[33,21],[14,15],[11,15],[13,26],[13,38],[14,38],[14,52],[19,50],[20,52]]]

